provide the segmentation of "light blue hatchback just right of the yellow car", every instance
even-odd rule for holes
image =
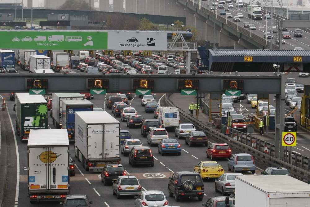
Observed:
[[[228,160],[228,171],[234,173],[240,171],[251,171],[255,173],[255,162],[253,156],[246,153],[233,154]]]

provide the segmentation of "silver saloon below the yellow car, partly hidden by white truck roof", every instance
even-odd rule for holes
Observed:
[[[231,194],[235,190],[235,177],[243,176],[242,173],[224,173],[219,178],[215,179],[215,192]]]

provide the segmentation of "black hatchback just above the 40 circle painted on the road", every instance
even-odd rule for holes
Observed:
[[[132,147],[128,160],[132,167],[135,167],[136,164],[150,164],[151,167],[154,167],[153,154],[148,146]]]

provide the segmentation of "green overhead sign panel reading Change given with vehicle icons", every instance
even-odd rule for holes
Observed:
[[[0,31],[1,48],[44,50],[94,50],[108,48],[107,32],[90,31]]]

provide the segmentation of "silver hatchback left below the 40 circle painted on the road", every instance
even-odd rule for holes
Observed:
[[[117,199],[120,196],[136,196],[141,192],[141,185],[135,176],[118,176],[112,185],[112,191]]]

